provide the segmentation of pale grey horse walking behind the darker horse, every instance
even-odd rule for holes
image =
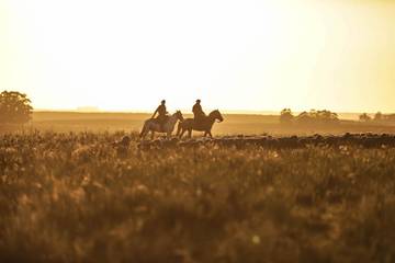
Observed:
[[[151,139],[154,139],[155,132],[157,133],[166,133],[167,138],[170,138],[171,133],[174,130],[174,126],[177,121],[182,122],[184,118],[182,116],[182,113],[180,111],[177,111],[174,114],[168,117],[166,123],[163,124],[163,127],[160,127],[160,124],[154,119],[149,118],[145,121],[142,133],[139,134],[139,137],[144,139],[149,132],[151,132]]]

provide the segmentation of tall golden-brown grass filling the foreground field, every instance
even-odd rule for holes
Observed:
[[[393,147],[124,135],[1,136],[0,262],[395,261]]]

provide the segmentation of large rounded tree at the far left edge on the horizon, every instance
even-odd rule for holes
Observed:
[[[0,93],[0,123],[23,124],[31,119],[33,107],[26,94],[18,91]]]

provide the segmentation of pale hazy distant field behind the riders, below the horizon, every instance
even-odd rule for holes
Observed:
[[[25,129],[53,132],[139,132],[145,113],[77,113],[77,112],[34,112],[33,121]],[[191,117],[185,114],[184,117]],[[345,133],[395,133],[395,125],[364,124],[341,121],[335,126],[284,126],[278,115],[224,114],[225,122],[215,124],[216,135],[312,135]],[[1,130],[1,128],[0,128]],[[198,133],[199,135],[199,133]]]

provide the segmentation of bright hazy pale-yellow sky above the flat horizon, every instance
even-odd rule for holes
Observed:
[[[36,108],[395,112],[395,1],[0,0]]]

